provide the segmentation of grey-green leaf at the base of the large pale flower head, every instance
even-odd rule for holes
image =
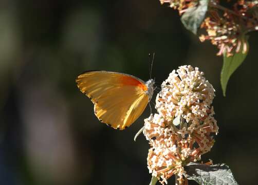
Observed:
[[[202,185],[238,185],[226,164],[206,165],[190,162],[185,166],[185,177]]]

